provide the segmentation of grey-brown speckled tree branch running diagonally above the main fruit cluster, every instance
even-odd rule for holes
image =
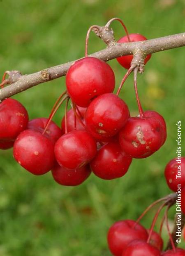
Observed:
[[[103,40],[103,36],[101,38]],[[143,56],[146,56],[150,53],[182,46],[185,46],[185,32],[140,42],[115,43],[114,45],[108,45],[106,49],[95,52],[89,56],[108,61],[124,55],[134,55],[138,50],[142,52]],[[21,76],[18,81],[15,81],[15,83],[11,83],[7,87],[0,90],[0,102],[40,83],[65,76],[67,70],[74,62],[75,61],[67,62],[65,64],[53,66],[36,73]]]

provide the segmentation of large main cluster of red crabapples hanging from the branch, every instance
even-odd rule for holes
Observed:
[[[0,104],[0,148],[13,147],[16,161],[35,175],[52,170],[53,178],[61,185],[79,185],[91,171],[106,180],[120,178],[132,158],[150,156],[166,140],[163,117],[155,111],[143,112],[135,75],[139,116],[130,117],[127,104],[118,96],[132,72],[133,56],[117,59],[128,71],[115,95],[115,76],[109,64],[87,55],[89,32],[86,57],[70,66],[66,74],[67,91],[60,95],[48,119],[28,121],[26,109],[14,99]],[[146,38],[127,33],[118,42],[139,40]],[[145,63],[150,57],[146,57]],[[72,109],[67,111],[69,99]],[[60,129],[51,119],[65,100]]]

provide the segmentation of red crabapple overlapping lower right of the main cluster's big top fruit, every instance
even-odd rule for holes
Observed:
[[[85,115],[87,129],[100,141],[116,135],[129,117],[127,104],[113,93],[100,95],[93,100]]]

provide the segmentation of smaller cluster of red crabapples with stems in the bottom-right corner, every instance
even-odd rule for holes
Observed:
[[[172,159],[166,165],[164,175],[166,178],[166,183],[169,188],[176,192],[178,197],[181,197],[181,211],[185,214],[185,157],[182,157],[180,164],[178,164],[178,159]],[[178,168],[181,168],[180,176],[180,191],[178,190]],[[114,223],[109,229],[107,235],[107,241],[109,249],[114,256],[185,256],[185,250],[176,248],[169,230],[168,223],[168,211],[169,208],[176,202],[177,195],[171,194],[167,197],[163,197],[153,204],[148,206],[148,208],[141,214],[138,220],[120,220]],[[175,200],[174,200],[175,199]],[[171,200],[173,203],[171,204]],[[150,229],[144,228],[139,221],[143,216],[155,205],[161,203],[160,207],[157,209],[157,212],[153,218],[153,222]],[[164,217],[162,218],[160,232],[155,232],[154,226],[157,221],[157,218],[166,206]],[[166,228],[168,230],[169,239],[171,242],[171,250],[162,251],[163,249],[163,239],[161,237],[162,228],[166,221]]]

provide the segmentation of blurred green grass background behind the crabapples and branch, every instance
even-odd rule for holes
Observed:
[[[0,77],[5,70],[32,73],[82,57],[88,27],[104,25],[112,17],[122,18],[130,33],[147,38],[180,33],[184,31],[185,1],[1,0]],[[112,27],[117,39],[123,35],[120,24],[115,22]],[[89,52],[104,47],[90,35]],[[168,138],[150,158],[133,160],[123,178],[104,181],[91,175],[79,187],[62,187],[54,183],[51,173],[35,177],[23,170],[12,150],[0,152],[1,256],[108,256],[109,226],[122,218],[136,219],[148,204],[170,192],[163,172],[167,161],[176,156],[177,120],[185,127],[184,56],[185,48],[156,53],[139,75],[143,107],[164,116]],[[125,70],[116,60],[109,64],[118,86]],[[15,98],[28,109],[30,119],[47,117],[64,88],[65,78],[59,78]],[[121,97],[131,113],[137,114],[132,78]],[[55,116],[58,125],[62,115],[63,109]],[[142,220],[146,227],[153,214]],[[173,208],[171,221],[174,214]]]

